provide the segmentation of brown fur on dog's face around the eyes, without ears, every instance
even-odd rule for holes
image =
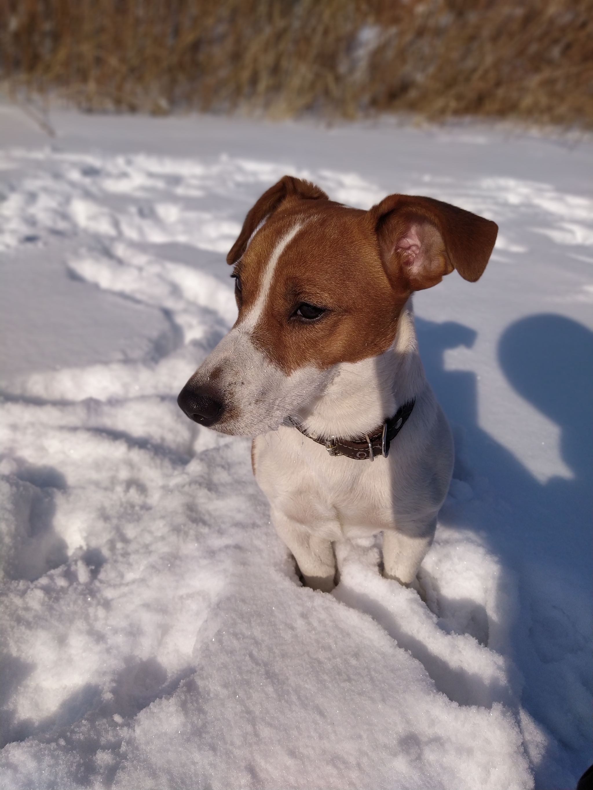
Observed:
[[[329,201],[279,211],[247,248],[239,269],[240,323],[259,295],[275,246],[304,225],[278,259],[252,341],[285,374],[312,364],[325,369],[384,352],[395,338],[410,290],[387,277],[366,213]],[[315,321],[296,316],[301,303],[323,307]]]

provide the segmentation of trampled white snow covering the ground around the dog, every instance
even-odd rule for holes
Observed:
[[[572,788],[591,762],[593,145],[0,106],[2,786]],[[455,476],[427,604],[338,546],[300,587],[249,442],[176,395],[285,172],[500,224],[415,299]],[[5,745],[6,744],[6,745]]]

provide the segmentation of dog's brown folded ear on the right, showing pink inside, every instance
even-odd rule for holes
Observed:
[[[479,280],[497,240],[496,223],[433,198],[389,195],[368,219],[387,276],[411,291],[440,283],[453,269]]]

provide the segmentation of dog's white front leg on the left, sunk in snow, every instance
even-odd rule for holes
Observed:
[[[331,541],[312,535],[279,510],[272,511],[272,521],[278,535],[293,552],[304,583],[323,592],[334,589],[335,557]]]

